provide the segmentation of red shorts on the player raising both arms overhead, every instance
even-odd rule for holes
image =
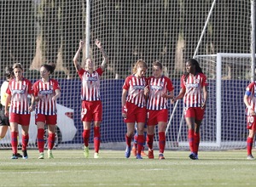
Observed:
[[[81,121],[82,122],[102,122],[102,101],[87,101],[82,102]]]

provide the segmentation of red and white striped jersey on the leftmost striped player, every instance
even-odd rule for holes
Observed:
[[[15,79],[9,81],[9,86],[6,90],[7,94],[11,95],[11,103],[9,112],[16,114],[29,114],[28,111],[28,94],[33,94],[32,82],[23,78],[22,81],[16,82]]]

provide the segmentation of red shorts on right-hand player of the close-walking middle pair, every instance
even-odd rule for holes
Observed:
[[[148,110],[148,126],[157,125],[159,122],[167,122],[168,121],[168,110],[163,109],[160,111],[152,111]]]

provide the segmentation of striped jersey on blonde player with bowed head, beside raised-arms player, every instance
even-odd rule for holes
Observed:
[[[128,90],[126,97],[127,102],[131,102],[138,107],[145,107],[146,100],[144,95],[144,88],[147,86],[147,79],[145,77],[137,78],[134,75],[125,78],[123,89]]]

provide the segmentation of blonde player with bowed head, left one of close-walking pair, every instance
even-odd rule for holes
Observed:
[[[148,65],[139,59],[134,65],[133,74],[125,78],[122,93],[122,116],[126,123],[127,133],[125,134],[126,150],[125,157],[131,156],[131,139],[137,122],[137,159],[143,159],[143,130],[146,121],[146,95],[148,94],[147,79],[144,77]]]

